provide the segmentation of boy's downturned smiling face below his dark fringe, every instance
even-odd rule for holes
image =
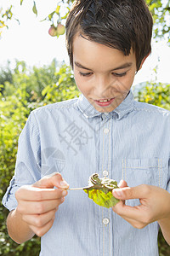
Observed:
[[[73,70],[78,89],[99,112],[111,112],[127,96],[136,72],[133,51],[122,51],[88,41],[73,41]]]

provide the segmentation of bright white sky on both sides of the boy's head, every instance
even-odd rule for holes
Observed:
[[[33,1],[24,0],[20,6],[20,0],[1,0],[1,5],[6,7],[12,3],[16,20],[8,24],[8,29],[3,30],[0,38],[0,67],[7,61],[26,61],[32,67],[49,64],[54,58],[57,61],[65,61],[69,64],[69,58],[65,48],[65,35],[59,38],[48,35],[49,21],[42,21],[56,8],[56,0],[37,0],[38,15],[32,12]],[[169,72],[170,47],[163,40],[156,43],[152,40],[152,53],[144,62],[141,71],[136,75],[133,84],[145,81],[158,81],[170,83]],[[157,78],[153,69],[158,66]]]

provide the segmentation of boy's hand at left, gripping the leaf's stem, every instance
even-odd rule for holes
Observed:
[[[54,186],[58,189],[54,189]],[[65,201],[65,189],[68,188],[61,175],[54,173],[16,191],[16,211],[37,236],[46,234],[54,224],[55,212]]]

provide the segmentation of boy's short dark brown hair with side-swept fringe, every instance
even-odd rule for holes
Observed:
[[[132,48],[139,70],[150,54],[153,20],[144,0],[76,0],[66,20],[66,47],[73,67],[73,39],[80,32],[88,40],[119,49]]]

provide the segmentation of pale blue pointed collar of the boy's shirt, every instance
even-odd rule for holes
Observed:
[[[107,113],[107,117],[111,117],[111,116],[116,116],[117,119],[122,119],[122,117],[124,115],[126,115],[127,113],[130,113],[133,111],[133,102],[134,102],[134,98],[133,98],[133,93],[130,90],[129,93],[127,94],[127,97],[124,99],[124,101],[116,108],[114,109],[112,112]],[[86,117],[86,118],[94,118],[97,116],[101,116],[104,113],[100,113],[99,111],[97,111],[93,105],[91,105],[87,98],[83,95],[81,95],[78,98],[77,101],[77,108],[82,112],[82,114]]]

